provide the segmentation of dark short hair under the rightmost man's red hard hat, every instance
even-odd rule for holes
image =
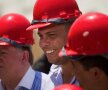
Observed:
[[[108,59],[101,56],[85,56],[78,60],[84,67],[85,70],[89,70],[93,67],[98,67],[108,76]]]

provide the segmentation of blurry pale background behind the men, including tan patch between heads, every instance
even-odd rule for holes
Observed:
[[[108,0],[76,0],[82,13],[88,11],[100,11],[108,14]],[[33,6],[36,0],[0,0],[0,16],[6,13],[15,12],[25,15],[32,20]],[[38,36],[34,33],[36,44],[33,45],[34,60],[37,60],[43,53],[38,45]]]

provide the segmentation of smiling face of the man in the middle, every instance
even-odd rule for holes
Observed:
[[[40,47],[43,49],[50,63],[58,64],[59,51],[65,45],[67,31],[64,25],[54,25],[38,30]]]

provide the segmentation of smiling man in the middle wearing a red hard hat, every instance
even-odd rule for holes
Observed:
[[[62,60],[58,53],[66,43],[71,24],[80,15],[75,0],[37,0],[34,5],[32,25],[27,30],[38,28],[40,47],[53,64],[49,76],[54,86],[63,83],[78,85],[70,60]]]

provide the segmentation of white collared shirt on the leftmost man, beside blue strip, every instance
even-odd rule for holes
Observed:
[[[44,73],[41,73],[41,74],[42,74],[41,90],[44,90],[43,88],[47,80],[47,75]],[[16,86],[15,90],[19,90],[20,87],[25,87],[28,90],[31,90],[34,79],[35,79],[35,71],[31,67],[29,67],[24,77],[21,79],[19,84]],[[0,90],[4,90],[1,84],[1,80],[0,80]]]

